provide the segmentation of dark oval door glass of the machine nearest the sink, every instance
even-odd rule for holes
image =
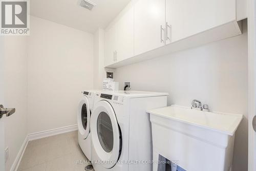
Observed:
[[[101,112],[98,116],[97,131],[101,146],[105,152],[110,153],[114,145],[114,135],[111,119],[105,112]]]

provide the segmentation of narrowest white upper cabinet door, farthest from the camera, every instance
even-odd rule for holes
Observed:
[[[107,28],[105,31],[105,56],[104,63],[105,66],[111,65],[114,63],[114,53],[115,53],[115,43],[116,43],[116,27],[112,25]]]

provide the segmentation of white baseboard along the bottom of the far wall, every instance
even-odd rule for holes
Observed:
[[[42,131],[38,133],[33,133],[28,135],[29,141],[36,140],[36,139],[41,139],[41,138],[46,138],[58,134],[63,134],[63,133],[68,133],[72,131],[77,130],[77,124],[76,125],[70,125],[70,126],[65,126],[65,127],[59,127],[57,129],[52,129],[48,131]]]

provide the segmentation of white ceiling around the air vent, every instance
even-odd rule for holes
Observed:
[[[75,29],[94,33],[105,28],[131,0],[91,0],[92,11],[78,6],[78,0],[32,0],[30,14]]]

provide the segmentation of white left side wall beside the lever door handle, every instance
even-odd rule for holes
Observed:
[[[16,112],[5,118],[5,144],[9,147],[6,170],[10,170],[27,137],[27,37],[6,36],[4,100]]]

